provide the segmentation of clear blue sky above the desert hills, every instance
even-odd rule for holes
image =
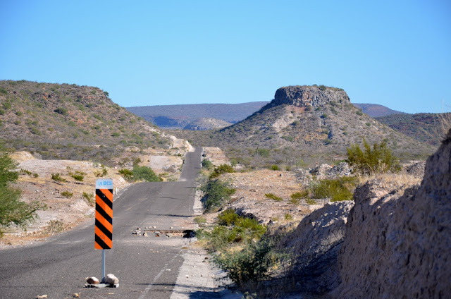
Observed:
[[[0,80],[97,86],[121,106],[240,103],[278,87],[451,111],[451,1],[0,0]]]

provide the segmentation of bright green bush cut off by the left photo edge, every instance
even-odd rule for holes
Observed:
[[[27,204],[20,200],[20,189],[11,185],[18,179],[16,162],[11,159],[8,152],[1,148],[0,152],[0,237],[3,236],[2,226],[16,224],[21,228],[37,218],[36,211],[45,205],[36,201]]]

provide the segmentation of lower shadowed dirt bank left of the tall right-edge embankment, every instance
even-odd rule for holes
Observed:
[[[347,216],[354,202],[333,202],[306,216],[295,231],[279,243],[279,250],[293,255],[290,276],[297,281],[297,291],[323,293],[336,288],[337,257],[345,237]]]

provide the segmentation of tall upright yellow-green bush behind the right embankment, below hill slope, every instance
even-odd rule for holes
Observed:
[[[363,141],[364,151],[357,144],[347,147],[347,162],[354,171],[363,175],[400,171],[400,162],[385,141],[374,143],[372,148],[365,138]]]

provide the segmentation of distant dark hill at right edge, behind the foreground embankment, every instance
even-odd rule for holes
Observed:
[[[438,146],[444,138],[445,128],[450,126],[451,113],[392,114],[376,120],[411,138]]]

